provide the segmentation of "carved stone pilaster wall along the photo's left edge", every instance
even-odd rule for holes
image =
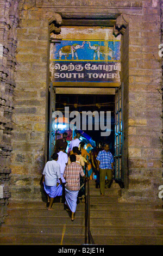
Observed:
[[[16,28],[18,26],[18,1],[1,1],[0,18],[0,224],[7,215],[9,188],[12,112],[14,109]]]

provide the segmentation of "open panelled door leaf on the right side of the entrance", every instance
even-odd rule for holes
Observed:
[[[123,182],[123,83],[115,92],[115,180]]]

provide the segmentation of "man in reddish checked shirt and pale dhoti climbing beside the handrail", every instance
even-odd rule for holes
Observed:
[[[80,175],[88,179],[82,166],[76,163],[76,155],[70,155],[71,163],[65,167],[64,178],[65,184],[65,204],[68,210],[71,211],[71,220],[74,221],[74,214],[77,208],[77,197],[80,190]]]

